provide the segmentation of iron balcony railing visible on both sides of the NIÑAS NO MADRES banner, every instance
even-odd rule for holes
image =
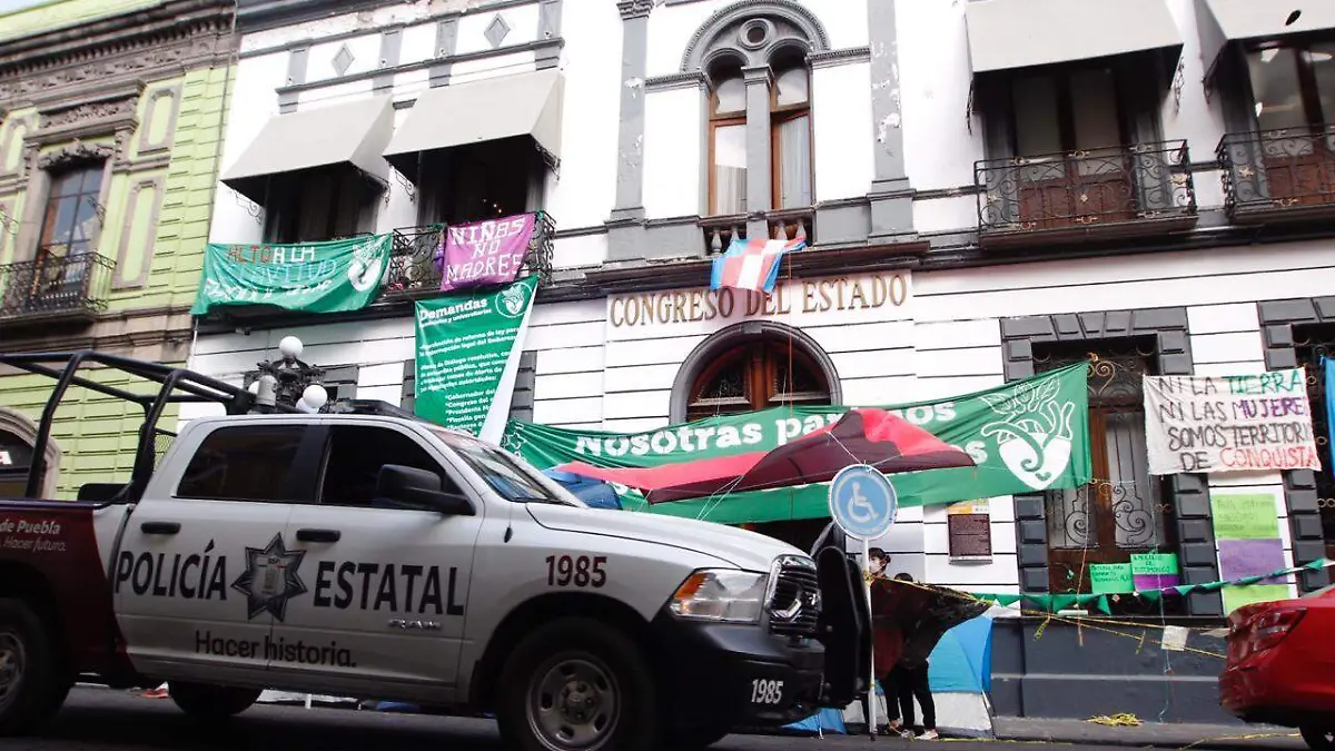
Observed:
[[[521,277],[537,274],[543,283],[551,282],[553,241],[557,223],[546,211],[538,211],[529,253],[523,259]],[[414,293],[433,293],[441,289],[441,241],[445,224],[400,227],[394,230],[394,250],[382,297]]]

